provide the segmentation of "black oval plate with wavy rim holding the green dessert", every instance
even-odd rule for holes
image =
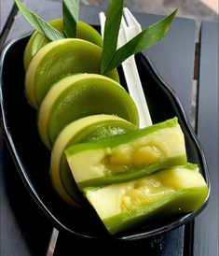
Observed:
[[[87,206],[88,208],[84,210],[66,206],[51,186],[48,174],[50,152],[39,139],[36,112],[28,105],[24,94],[25,73],[22,57],[28,39],[29,36],[21,36],[11,41],[3,50],[1,57],[0,97],[8,149],[25,187],[56,228],[82,237],[111,237],[91,207]],[[188,161],[198,164],[210,188],[209,172],[203,150],[185,117],[185,111],[177,95],[157,75],[153,64],[143,54],[136,55],[136,63],[153,122],[178,117],[185,134]],[[121,83],[125,86],[120,68],[119,72],[122,78]],[[207,205],[208,198],[196,212],[162,220],[156,224],[150,223],[114,237],[140,239],[169,231],[194,219]]]

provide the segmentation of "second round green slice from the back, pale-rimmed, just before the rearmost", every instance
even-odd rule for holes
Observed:
[[[69,75],[99,74],[102,48],[82,39],[60,39],[39,50],[29,65],[25,78],[25,92],[29,103],[40,106],[52,85]],[[119,81],[116,69],[106,74]]]

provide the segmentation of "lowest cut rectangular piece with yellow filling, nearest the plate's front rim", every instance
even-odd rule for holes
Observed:
[[[111,235],[140,223],[151,223],[196,211],[208,187],[196,164],[175,166],[144,178],[84,190]]]

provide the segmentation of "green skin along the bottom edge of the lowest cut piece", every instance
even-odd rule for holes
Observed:
[[[184,172],[182,166],[179,167],[181,168],[180,171]],[[186,171],[197,172],[198,174],[196,164],[186,164],[183,168]],[[163,175],[165,171],[161,170],[157,174],[162,173]],[[200,176],[200,174],[198,175]],[[87,196],[89,191],[92,190],[95,191],[98,188],[85,189],[85,195]],[[168,217],[194,212],[203,205],[208,193],[209,189],[204,181],[202,184],[195,184],[194,182],[194,185],[191,187],[182,186],[174,192],[168,192],[154,203],[139,206],[135,209],[123,210],[120,214],[103,219],[102,221],[108,232],[111,235],[115,235],[143,223],[156,223],[157,220],[162,221]]]

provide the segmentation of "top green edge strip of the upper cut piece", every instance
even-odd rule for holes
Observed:
[[[88,143],[77,144],[74,147],[66,149],[65,153],[68,156],[71,156],[72,154],[83,151],[84,149],[88,149],[88,146],[89,146],[89,149],[104,149],[106,145],[110,148],[114,148],[119,144],[129,143],[132,140],[135,140],[136,138],[140,138],[144,135],[149,135],[151,133],[156,132],[157,130],[175,127],[177,124],[178,124],[178,119],[175,117],[167,121],[158,122],[157,124],[148,126],[144,129],[131,132],[129,134],[116,136],[116,138],[105,138],[101,141],[89,142],[89,144]]]

